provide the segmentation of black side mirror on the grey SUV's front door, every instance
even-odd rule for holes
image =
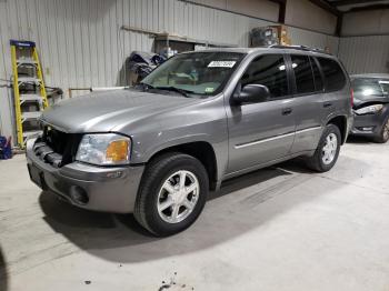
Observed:
[[[270,97],[269,88],[263,84],[247,84],[240,92],[236,92],[232,97],[237,104],[259,103],[268,100]]]

